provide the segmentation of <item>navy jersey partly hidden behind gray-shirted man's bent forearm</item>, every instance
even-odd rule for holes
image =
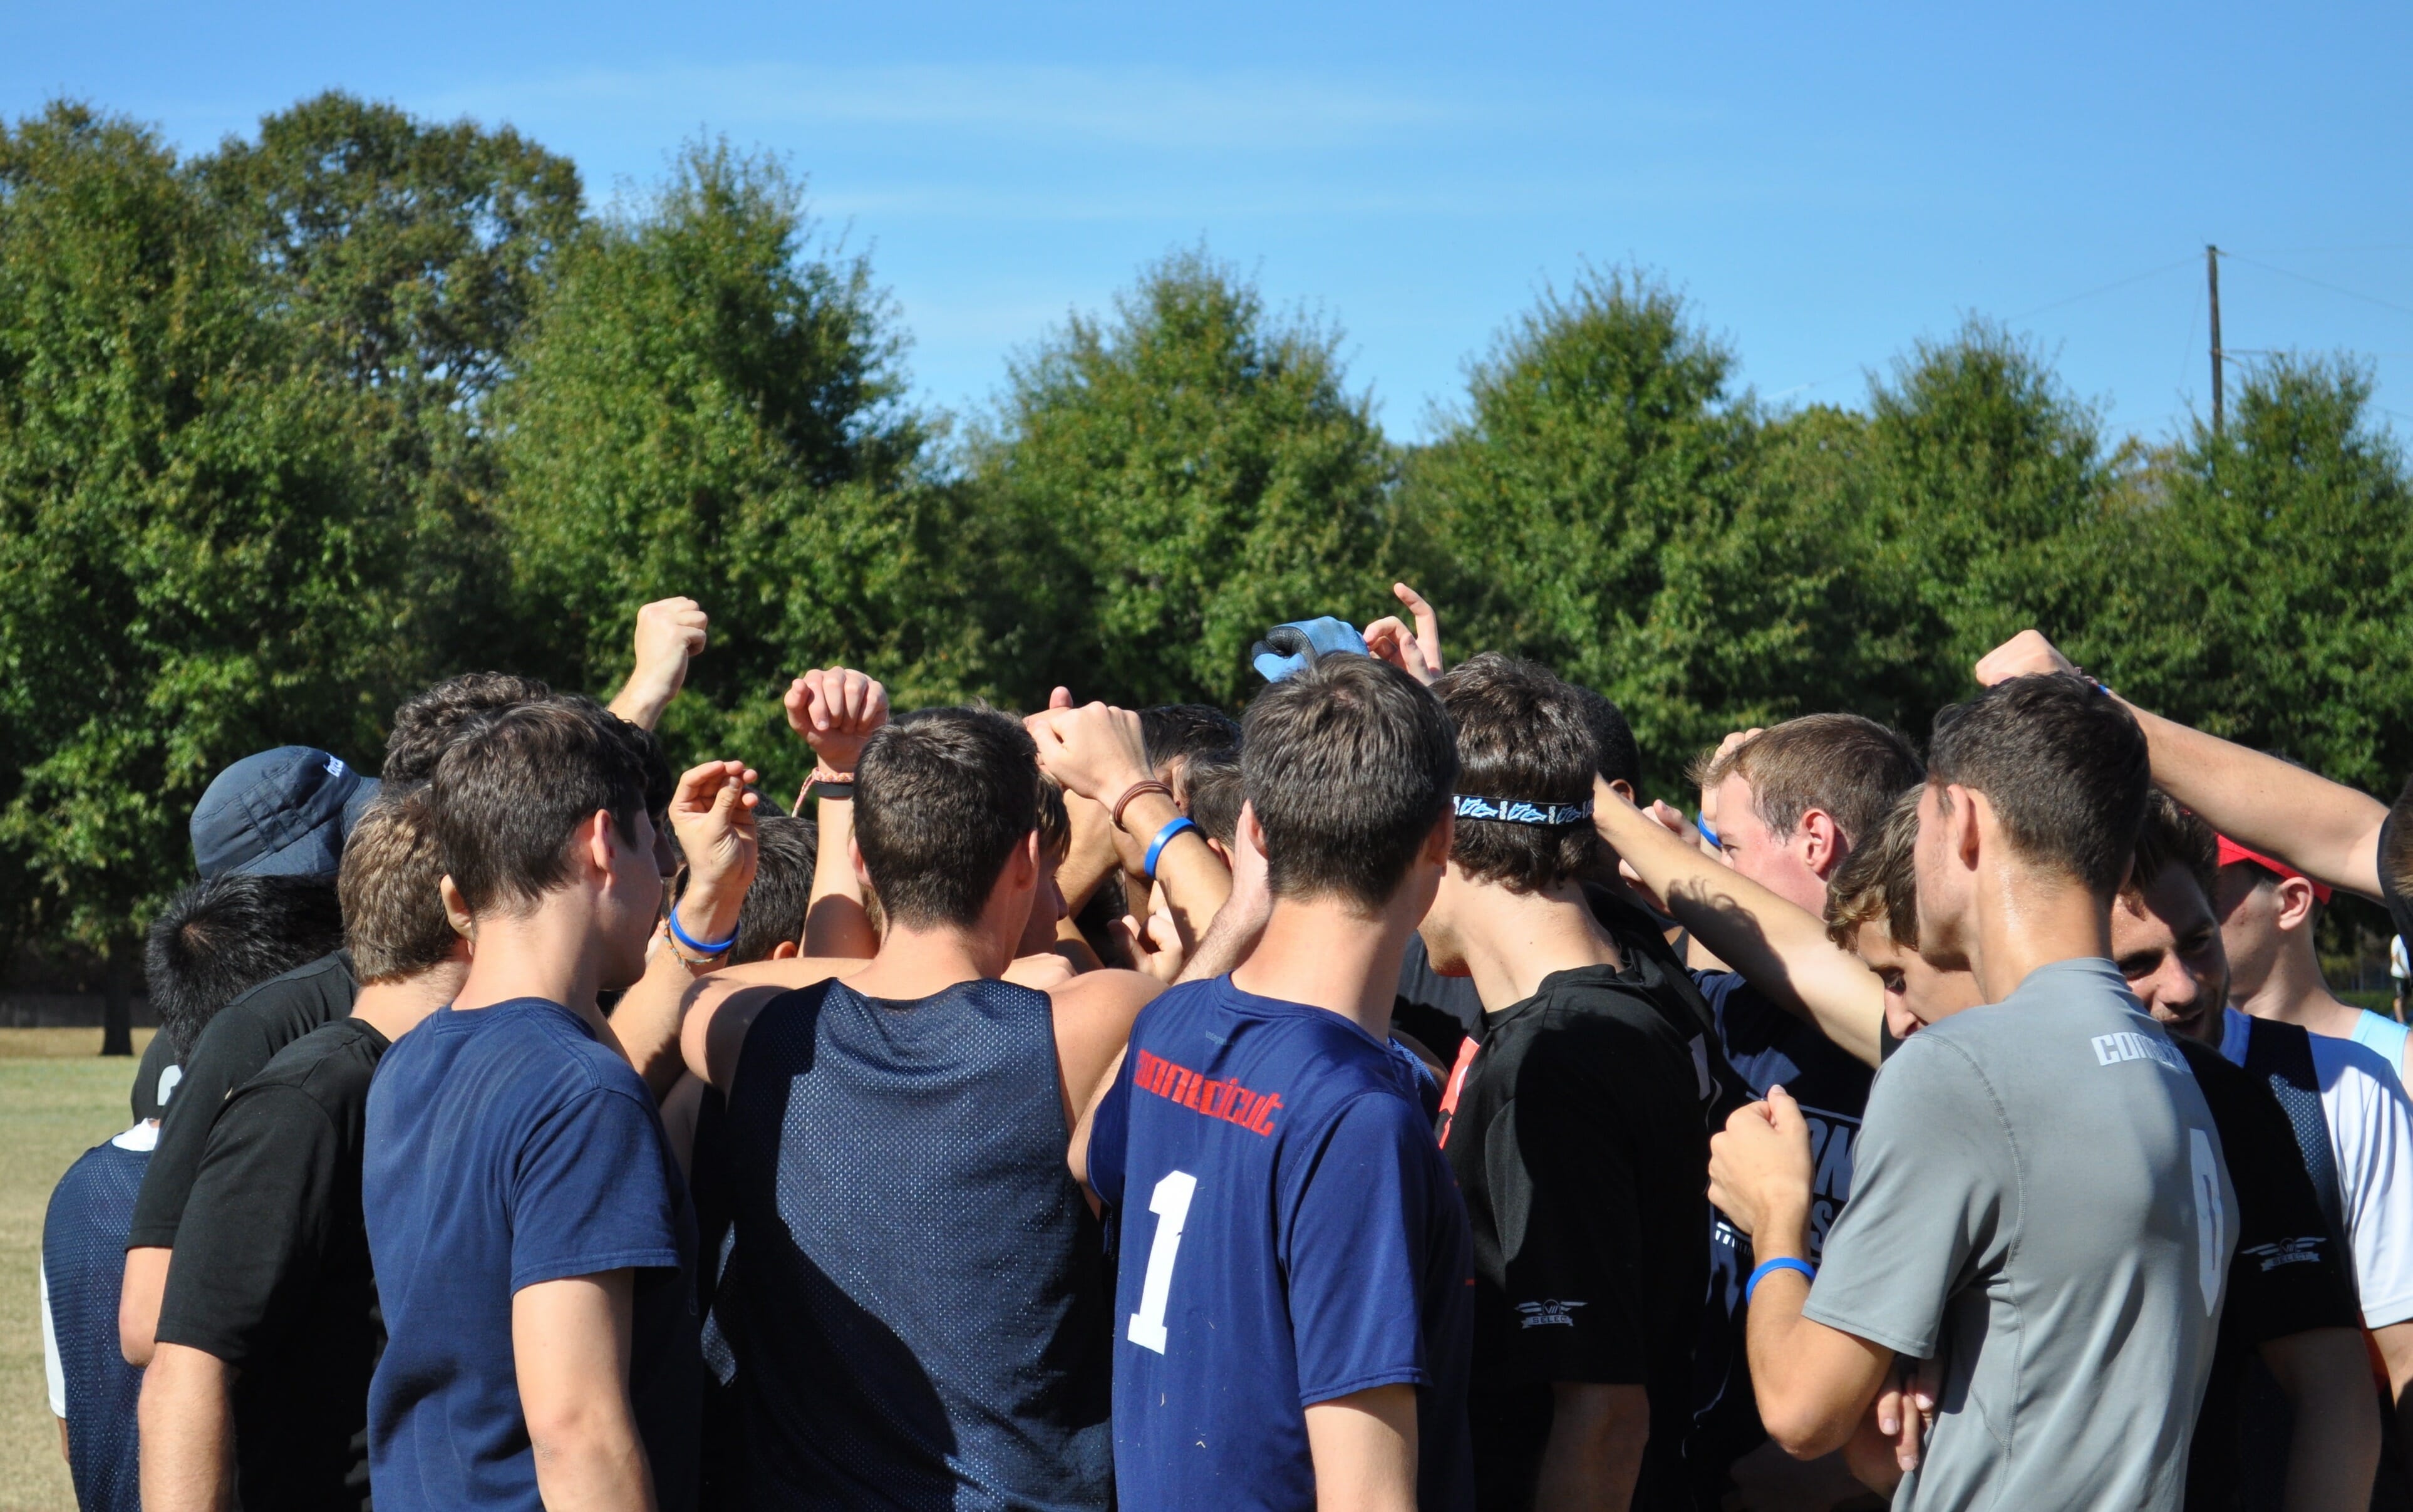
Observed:
[[[1694,984],[1718,1022],[1718,1044],[1728,1066],[1749,1085],[1752,1097],[1766,1097],[1783,1085],[1803,1104],[1810,1124],[1810,1261],[1827,1244],[1827,1225],[1851,1196],[1851,1148],[1860,1138],[1860,1112],[1868,1107],[1868,1080],[1875,1076],[1851,1051],[1817,1032],[1815,1025],[1786,1013],[1740,972],[1694,972]],[[1752,1273],[1752,1240],[1708,1211],[1708,1302],[1701,1341],[1694,1350],[1694,1418],[1699,1423],[1687,1461],[1713,1490],[1725,1466],[1749,1452],[1766,1432],[1752,1401],[1747,1355],[1742,1348],[1742,1283]]]

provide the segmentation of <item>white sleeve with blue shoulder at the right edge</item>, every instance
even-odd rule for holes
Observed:
[[[2413,1319],[2413,1100],[2365,1044],[2314,1035],[2312,1059],[2338,1155],[2362,1321],[2401,1324]]]

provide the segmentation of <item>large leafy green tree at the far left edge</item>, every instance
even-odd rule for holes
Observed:
[[[118,989],[210,776],[391,707],[398,533],[261,294],[152,133],[0,130],[0,892]]]

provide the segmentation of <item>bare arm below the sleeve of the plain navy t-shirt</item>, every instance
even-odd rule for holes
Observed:
[[[627,1399],[635,1271],[512,1295],[519,1411],[548,1512],[652,1512],[654,1476]]]

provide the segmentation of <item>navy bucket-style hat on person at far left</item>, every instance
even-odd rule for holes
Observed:
[[[343,837],[376,798],[376,786],[374,776],[314,745],[249,755],[220,772],[193,805],[193,866],[203,878],[333,878]]]

